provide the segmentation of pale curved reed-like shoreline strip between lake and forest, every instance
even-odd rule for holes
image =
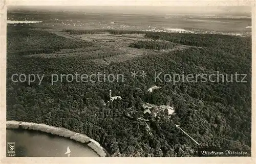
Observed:
[[[95,140],[89,138],[86,134],[76,133],[66,128],[60,128],[55,126],[50,126],[46,124],[37,124],[33,122],[22,122],[22,121],[6,121],[6,129],[25,129],[25,130],[35,130],[46,133],[51,133],[53,135],[62,136],[69,138],[79,143],[85,143],[93,151],[95,151],[100,157],[108,157],[110,154]]]

